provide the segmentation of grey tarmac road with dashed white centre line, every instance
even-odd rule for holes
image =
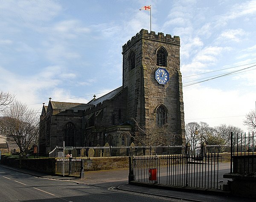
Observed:
[[[131,193],[115,187],[79,185],[69,180],[38,178],[0,167],[1,202],[130,202],[135,200],[141,202],[181,201],[164,196]]]

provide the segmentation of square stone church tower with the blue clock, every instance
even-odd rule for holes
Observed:
[[[127,117],[146,129],[167,125],[176,144],[185,143],[180,38],[142,29],[123,47]]]

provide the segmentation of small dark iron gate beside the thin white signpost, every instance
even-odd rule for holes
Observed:
[[[64,159],[64,175],[65,176],[80,176],[83,173],[83,163],[81,158],[65,158]],[[56,174],[63,175],[63,159],[56,160]]]

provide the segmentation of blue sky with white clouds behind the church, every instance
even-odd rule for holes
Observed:
[[[256,108],[256,0],[0,0],[0,90],[38,116],[122,85],[141,29],[180,37],[185,123],[234,125]]]

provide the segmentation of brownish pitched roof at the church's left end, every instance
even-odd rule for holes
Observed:
[[[85,110],[92,107],[93,105],[84,104],[84,103],[73,103],[73,102],[55,102],[51,101],[53,109],[59,109],[65,111],[66,109],[72,109],[74,111]]]

